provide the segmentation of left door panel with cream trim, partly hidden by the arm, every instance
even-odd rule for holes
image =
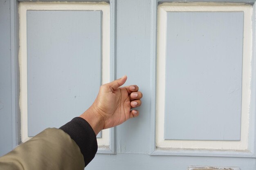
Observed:
[[[21,140],[60,127],[93,103],[110,79],[110,6],[20,3]],[[98,136],[110,150],[110,130]]]

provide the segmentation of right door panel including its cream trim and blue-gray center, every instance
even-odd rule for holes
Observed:
[[[159,150],[248,150],[251,15],[244,4],[158,6]]]

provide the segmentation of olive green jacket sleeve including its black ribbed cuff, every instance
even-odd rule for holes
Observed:
[[[47,128],[0,157],[0,170],[83,170],[97,152],[92,132],[81,118]]]

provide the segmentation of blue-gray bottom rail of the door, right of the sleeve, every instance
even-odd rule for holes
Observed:
[[[111,163],[110,163],[111,162]],[[117,154],[106,157],[96,155],[86,170],[187,170],[189,166],[239,167],[240,170],[255,170],[254,158],[228,157],[179,157],[147,154]]]

